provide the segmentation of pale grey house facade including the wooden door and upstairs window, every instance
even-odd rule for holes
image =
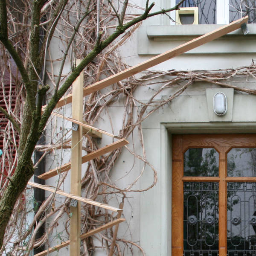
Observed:
[[[235,0],[185,1],[184,8],[198,7],[198,24],[176,22],[177,17],[183,20],[183,15],[184,22],[191,23],[187,20],[195,19],[194,11],[180,12],[180,16],[175,12],[157,15],[143,22],[120,47],[122,59],[134,66],[249,14],[249,34],[237,29],[151,67],[150,82],[142,82],[134,93],[137,108],[133,115],[136,117],[136,111],[148,102],[150,106],[143,115],[150,115],[143,119],[141,130],[134,130],[127,138],[128,148],[145,160],[139,139],[142,132],[150,165],[124,149],[111,178],[116,186],[125,187],[134,182],[134,177],[140,177],[127,193],[129,203],[125,203],[123,216],[128,228],[120,224],[119,236],[137,241],[145,255],[255,255],[256,180],[251,171],[256,148],[256,6],[252,1],[239,9],[237,2],[240,4]],[[176,3],[156,0],[153,11]],[[137,4],[143,6],[144,1]],[[144,74],[137,74],[137,79]],[[175,83],[177,78],[180,80]],[[151,97],[164,85],[154,101],[166,103],[151,113],[155,106]],[[220,102],[214,101],[216,93],[222,93]],[[218,104],[224,106],[224,114],[216,113]],[[118,134],[123,107],[122,100],[114,102],[108,107],[112,123],[102,119],[97,127]],[[103,137],[101,145],[108,143],[111,140]],[[231,169],[229,174],[226,170]],[[241,172],[243,169],[247,171]],[[156,185],[145,189],[156,181],[156,173]],[[121,179],[123,176],[125,179]],[[48,184],[55,185],[55,181],[49,180]],[[119,201],[110,202],[117,206]],[[67,249],[62,251],[68,253]],[[100,248],[96,250],[96,255],[104,253]],[[140,254],[135,247],[133,255]],[[125,251],[124,255],[132,253]]]

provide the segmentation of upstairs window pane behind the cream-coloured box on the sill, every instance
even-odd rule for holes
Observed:
[[[199,24],[216,23],[216,0],[185,0],[180,7],[198,7]]]

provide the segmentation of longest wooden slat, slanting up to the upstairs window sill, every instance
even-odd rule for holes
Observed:
[[[213,30],[212,32],[209,32],[205,35],[202,35],[198,38],[195,38],[185,44],[181,44],[178,47],[175,47],[174,49],[171,49],[167,52],[164,52],[160,55],[157,55],[153,58],[150,58],[147,61],[144,61],[140,64],[135,65],[134,67],[130,67],[122,72],[119,72],[113,76],[110,76],[108,78],[105,78],[101,81],[98,81],[90,86],[87,86],[84,88],[84,96],[89,95],[90,93],[96,92],[97,90],[101,90],[113,83],[116,83],[118,81],[121,81],[122,79],[126,79],[129,76],[133,76],[137,73],[140,73],[143,70],[146,70],[150,67],[153,67],[159,63],[162,63],[163,61],[167,61],[171,58],[174,58],[184,52],[187,52],[191,49],[194,49],[195,47],[201,46],[203,44],[206,44],[207,42],[210,42],[216,38],[219,38],[223,35],[226,35],[229,32],[232,32],[236,29],[239,29],[241,24],[247,23],[248,16],[243,17],[239,20],[235,20],[231,22],[230,24],[227,24],[225,26],[221,26],[218,29]],[[72,94],[69,94],[63,98],[61,98],[56,105],[57,108],[62,107],[63,105],[66,105],[68,103],[72,102]]]

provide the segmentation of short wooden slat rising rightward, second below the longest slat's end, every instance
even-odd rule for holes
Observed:
[[[82,163],[86,163],[89,160],[92,160],[96,157],[102,156],[103,154],[106,154],[110,151],[115,150],[116,148],[120,148],[124,145],[128,144],[128,141],[125,139],[122,140],[117,140],[114,143],[111,143],[109,145],[106,145],[103,148],[100,148],[96,151],[93,151],[85,156],[82,157]],[[43,180],[47,180],[51,177],[54,177],[55,175],[58,175],[61,172],[67,172],[70,169],[71,166],[71,162],[64,164],[63,166],[60,166],[58,168],[52,169],[49,172],[45,172],[42,175],[39,175],[38,178],[43,179]]]

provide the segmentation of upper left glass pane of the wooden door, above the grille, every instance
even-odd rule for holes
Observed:
[[[184,176],[218,176],[219,154],[215,148],[189,148],[184,153]]]

